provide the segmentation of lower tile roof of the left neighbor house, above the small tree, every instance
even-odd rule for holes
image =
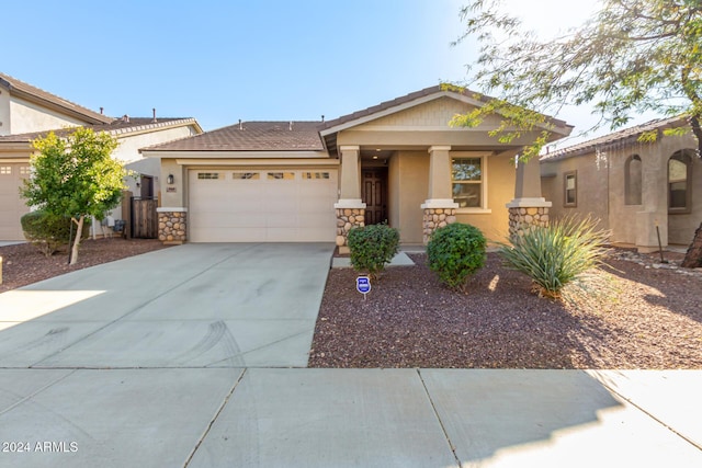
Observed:
[[[92,128],[95,132],[106,132],[114,137],[121,135],[128,135],[136,132],[156,130],[158,128],[172,127],[183,124],[193,124],[200,128],[200,124],[192,117],[159,117],[157,122],[154,122],[152,117],[129,117],[126,119],[116,118],[110,124],[99,125],[83,125],[83,127]],[[0,144],[3,142],[30,142],[38,137],[48,135],[49,132],[54,132],[58,136],[65,136],[77,127],[57,128],[54,130],[45,132],[32,132],[27,134],[5,135],[0,136]]]

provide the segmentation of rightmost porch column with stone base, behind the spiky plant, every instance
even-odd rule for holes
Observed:
[[[552,203],[541,196],[541,171],[539,158],[517,164],[514,199],[507,204],[509,210],[509,237],[523,236],[532,226],[548,225],[548,208]]]

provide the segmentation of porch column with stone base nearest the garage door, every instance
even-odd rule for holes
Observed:
[[[349,231],[365,225],[365,203],[361,201],[361,147],[340,146],[341,181],[337,212],[337,246],[349,253]]]

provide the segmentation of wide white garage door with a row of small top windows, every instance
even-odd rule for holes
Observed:
[[[190,170],[192,242],[333,241],[337,170]]]

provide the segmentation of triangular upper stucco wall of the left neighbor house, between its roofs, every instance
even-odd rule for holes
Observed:
[[[3,92],[4,95],[4,92]],[[64,127],[84,125],[86,122],[56,111],[10,96],[9,132],[4,135],[18,135],[32,132],[54,130]],[[2,130],[7,132],[3,123]]]

